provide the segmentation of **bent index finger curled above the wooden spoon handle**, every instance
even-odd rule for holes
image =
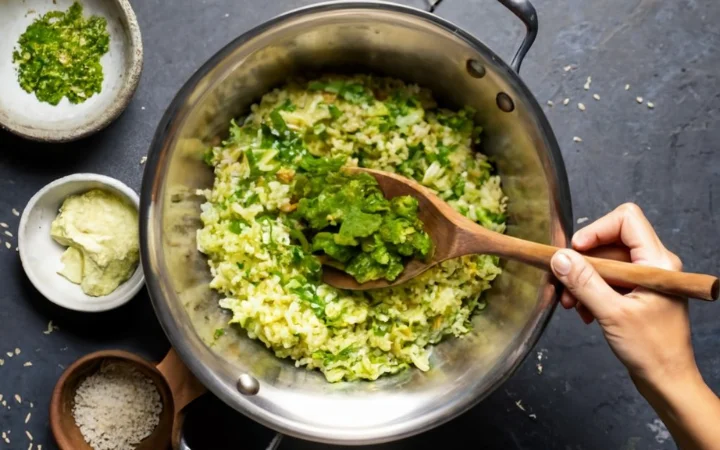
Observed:
[[[630,249],[633,262],[652,262],[665,254],[665,247],[640,207],[620,205],[614,211],[579,230],[572,239],[573,248],[586,251],[622,242]]]

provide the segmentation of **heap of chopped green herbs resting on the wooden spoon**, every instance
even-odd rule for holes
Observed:
[[[432,252],[418,201],[408,195],[386,199],[368,174],[300,174],[295,190],[302,197],[295,215],[307,225],[312,251],[325,253],[359,283],[393,281],[406,259]]]

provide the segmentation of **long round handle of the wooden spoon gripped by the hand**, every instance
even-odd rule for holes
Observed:
[[[486,236],[478,239],[484,240],[482,245],[488,246]],[[545,270],[550,270],[550,260],[555,252],[560,250],[558,247],[525,241],[512,236],[492,239],[490,247],[487,249],[489,250],[487,253],[522,261]],[[608,284],[616,287],[642,286],[670,295],[708,301],[717,300],[718,291],[720,291],[720,282],[717,277],[711,275],[674,272],[596,257],[586,256],[586,258]]]

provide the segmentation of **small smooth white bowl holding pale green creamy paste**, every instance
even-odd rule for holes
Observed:
[[[58,215],[63,201],[73,194],[91,189],[103,189],[125,197],[140,207],[140,197],[122,182],[104,175],[80,173],[55,180],[40,189],[28,202],[20,218],[18,250],[28,278],[51,302],[75,311],[100,312],[124,305],[142,288],[145,278],[142,266],[129,280],[103,297],[85,294],[79,285],[71,283],[57,272],[60,256],[66,247],[50,237],[50,225]]]

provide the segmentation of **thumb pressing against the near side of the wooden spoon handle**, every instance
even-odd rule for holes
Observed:
[[[559,250],[550,263],[555,276],[598,319],[608,316],[615,292],[579,253]]]

